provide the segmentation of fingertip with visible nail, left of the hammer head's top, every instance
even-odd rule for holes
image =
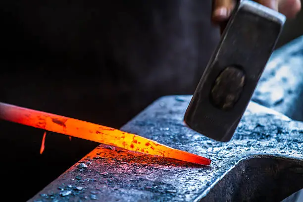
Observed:
[[[228,20],[235,4],[235,0],[213,0],[212,20],[215,23]]]

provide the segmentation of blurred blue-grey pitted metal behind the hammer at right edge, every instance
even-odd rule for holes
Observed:
[[[274,51],[253,101],[303,121],[303,36]]]

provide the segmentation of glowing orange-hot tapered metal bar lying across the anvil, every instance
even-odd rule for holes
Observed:
[[[0,118],[47,131],[95,141],[135,152],[209,165],[210,159],[159,144],[114,128],[0,102]]]

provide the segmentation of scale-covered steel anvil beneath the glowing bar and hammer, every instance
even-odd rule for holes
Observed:
[[[232,140],[216,142],[183,123],[190,99],[160,98],[122,130],[209,157],[210,166],[100,145],[29,201],[274,202],[303,188],[302,122],[251,102]]]

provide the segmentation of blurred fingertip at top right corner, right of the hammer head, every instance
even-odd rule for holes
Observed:
[[[301,0],[279,0],[278,9],[287,18],[295,18],[301,10]]]

